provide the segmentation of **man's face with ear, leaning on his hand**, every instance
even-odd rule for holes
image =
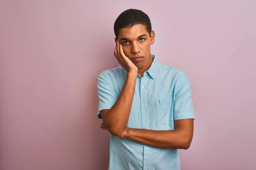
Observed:
[[[115,41],[117,40],[122,45],[125,56],[138,68],[150,67],[152,62],[150,46],[154,44],[154,31],[151,31],[150,37],[146,27],[137,24],[120,29]]]

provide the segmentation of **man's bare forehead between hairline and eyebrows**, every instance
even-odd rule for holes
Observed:
[[[139,37],[142,34],[149,35],[145,26],[141,24],[137,24],[132,27],[126,27],[126,28],[120,29],[118,38],[119,39],[121,38],[137,39],[137,37]]]

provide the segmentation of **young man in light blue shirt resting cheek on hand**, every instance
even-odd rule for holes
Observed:
[[[120,67],[98,77],[102,130],[111,133],[109,170],[180,170],[195,119],[189,79],[151,54],[147,14],[122,12],[114,24]]]

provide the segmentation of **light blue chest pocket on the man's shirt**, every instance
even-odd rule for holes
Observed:
[[[173,121],[172,99],[155,100],[157,125],[168,125]]]

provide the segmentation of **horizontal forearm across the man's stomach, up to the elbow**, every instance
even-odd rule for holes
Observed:
[[[181,130],[126,128],[123,138],[158,148],[188,149],[192,138]]]

